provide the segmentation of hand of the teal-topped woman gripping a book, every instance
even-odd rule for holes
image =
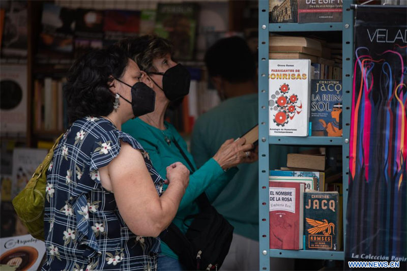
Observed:
[[[239,138],[236,141],[231,138],[226,140],[214,155],[213,159],[221,166],[223,170],[237,166],[241,163],[252,163],[258,159],[253,149],[253,144],[245,144],[245,138]]]

